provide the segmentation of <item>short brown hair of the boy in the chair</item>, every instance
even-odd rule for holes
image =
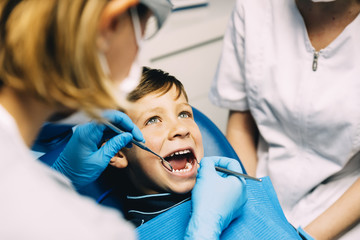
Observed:
[[[166,94],[175,86],[178,92],[177,98],[182,94],[186,101],[188,97],[182,83],[174,76],[160,69],[143,67],[142,77],[139,85],[127,97],[129,102],[136,102],[150,93]]]

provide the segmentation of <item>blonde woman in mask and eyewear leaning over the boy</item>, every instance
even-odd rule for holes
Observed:
[[[78,195],[73,186],[95,180],[132,138],[143,141],[125,114],[99,110],[116,109],[137,85],[133,76],[140,76],[141,66],[132,63],[142,38],[155,33],[170,10],[166,0],[0,2],[0,239],[136,238],[118,212]],[[105,126],[79,126],[53,166],[59,174],[29,147],[45,121],[77,110],[127,132],[98,149]],[[231,221],[237,215],[229,211],[218,216]]]

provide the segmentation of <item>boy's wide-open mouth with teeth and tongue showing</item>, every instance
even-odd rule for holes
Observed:
[[[195,155],[190,149],[173,152],[164,159],[170,163],[173,172],[189,172],[196,163]]]

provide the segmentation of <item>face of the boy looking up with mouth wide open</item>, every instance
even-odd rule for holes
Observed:
[[[155,155],[136,146],[123,150],[135,187],[145,194],[187,193],[196,181],[197,161],[204,155],[200,130],[184,95],[173,86],[160,96],[151,93],[136,101],[126,113],[140,128],[146,146],[174,168],[167,170]]]

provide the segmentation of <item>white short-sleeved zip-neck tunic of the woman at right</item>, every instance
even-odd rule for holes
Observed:
[[[270,176],[288,220],[306,226],[360,176],[360,15],[314,49],[294,0],[239,0],[211,101],[250,110],[261,133],[257,176]],[[336,176],[335,176],[336,175]],[[343,239],[359,239],[360,225]]]

